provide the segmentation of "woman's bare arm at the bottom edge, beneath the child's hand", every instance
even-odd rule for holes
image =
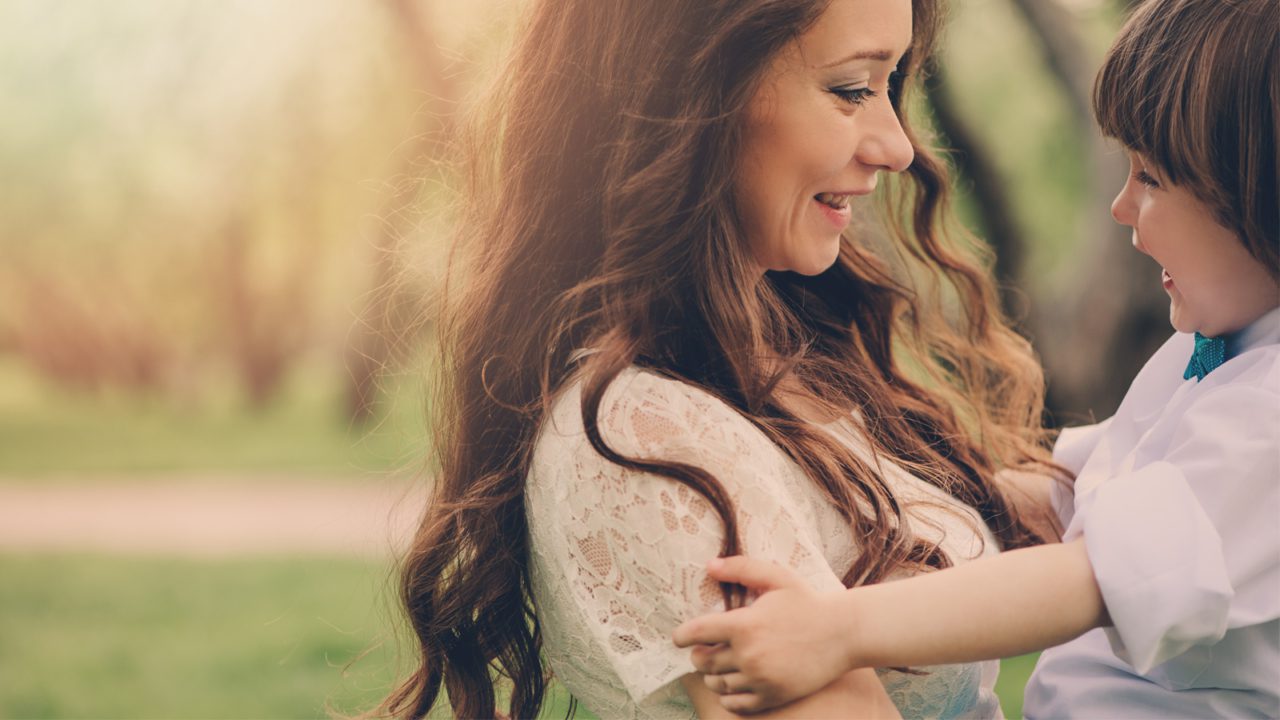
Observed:
[[[746,707],[740,707],[739,705],[744,700],[742,696],[716,694],[708,687],[704,675],[699,673],[685,675],[681,678],[681,684],[685,687],[685,692],[689,693],[689,698],[694,701],[694,708],[701,720],[728,720],[740,717],[740,715],[733,712],[733,708],[746,711]],[[893,701],[884,692],[884,685],[876,676],[876,671],[861,669],[845,673],[829,685],[808,697],[764,714],[753,715],[753,717],[778,720],[783,717],[812,717],[814,720],[831,717],[845,720],[847,717],[900,717],[900,715],[897,707],[893,706]]]

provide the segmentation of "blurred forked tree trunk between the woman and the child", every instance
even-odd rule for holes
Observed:
[[[1055,421],[1076,423],[1115,410],[1138,369],[1169,334],[1166,301],[1157,283],[1140,282],[1151,274],[1151,261],[1130,247],[1129,228],[1111,218],[1111,199],[1128,165],[1093,123],[1098,58],[1089,53],[1080,22],[1059,0],[1011,3],[1036,38],[1048,77],[1066,99],[1084,143],[1087,206],[1082,237],[1070,255],[1073,266],[1064,273],[1070,278],[1065,290],[1027,274],[1027,246],[1038,242],[1044,228],[1016,228],[1007,179],[991,161],[1001,145],[984,145],[974,129],[982,123],[964,117],[951,101],[952,83],[945,68],[928,86],[928,97],[938,129],[956,150],[959,172],[972,182],[979,222],[997,254],[997,277],[1020,290],[1005,293],[1006,306],[1021,316],[1015,299],[1025,295],[1029,300],[1023,332],[1044,363],[1048,409]]]

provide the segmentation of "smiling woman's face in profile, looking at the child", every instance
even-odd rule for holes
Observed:
[[[840,252],[850,199],[911,164],[890,74],[911,44],[910,0],[832,0],[751,99],[736,200],[764,270],[814,275]]]

